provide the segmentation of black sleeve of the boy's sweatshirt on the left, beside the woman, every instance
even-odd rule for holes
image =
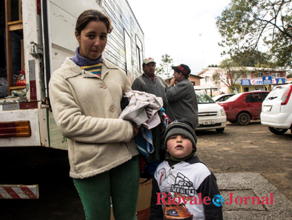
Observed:
[[[164,212],[161,205],[157,205],[157,192],[160,192],[155,177],[152,179],[152,197],[150,203],[150,220],[163,220]]]

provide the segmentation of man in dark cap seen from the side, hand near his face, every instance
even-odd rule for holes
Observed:
[[[166,98],[168,99],[166,113],[170,120],[187,120],[192,123],[195,130],[199,126],[198,103],[194,93],[194,85],[188,80],[190,68],[181,64],[172,67],[172,69],[175,73],[166,89]]]

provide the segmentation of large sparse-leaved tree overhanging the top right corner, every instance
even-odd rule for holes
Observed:
[[[216,18],[223,54],[265,48],[278,67],[292,67],[291,1],[232,0]]]

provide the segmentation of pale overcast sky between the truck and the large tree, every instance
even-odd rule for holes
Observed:
[[[144,32],[145,56],[159,66],[169,54],[174,65],[186,64],[192,74],[219,64],[223,48],[216,17],[230,0],[127,0]]]

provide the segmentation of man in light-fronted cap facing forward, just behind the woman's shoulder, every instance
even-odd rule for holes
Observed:
[[[166,88],[167,84],[164,80],[155,75],[156,63],[154,58],[146,58],[143,61],[143,74],[136,78],[133,82],[132,89],[137,91],[145,91],[148,94],[154,94],[161,97],[164,101],[164,109],[167,108]]]

